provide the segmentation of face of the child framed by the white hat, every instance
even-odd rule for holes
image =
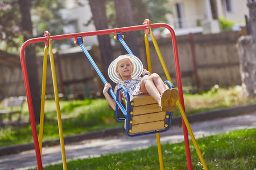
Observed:
[[[130,59],[121,59],[117,63],[117,74],[121,76],[123,80],[131,79],[131,74],[133,73],[133,65],[131,64]]]

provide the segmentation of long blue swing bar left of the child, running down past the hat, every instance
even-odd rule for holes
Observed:
[[[88,50],[86,50],[84,44],[82,44],[82,39],[81,38],[77,38],[77,43],[80,45],[81,49],[84,51],[86,57],[89,59],[90,63],[92,64],[93,68],[95,69],[95,71],[97,72],[98,76],[100,76],[102,82],[104,84],[108,83],[106,81],[106,79],[104,78],[104,76],[102,75],[100,69],[98,69],[98,66],[96,65],[96,63],[93,61],[92,57],[90,56]],[[112,90],[112,88],[109,88],[109,92],[110,95],[113,97],[113,99],[115,100],[115,103],[117,103],[118,107],[121,109],[122,113],[126,116],[126,110],[125,108],[123,108],[123,105],[120,103],[119,100],[117,100],[117,96],[115,96],[114,91]]]

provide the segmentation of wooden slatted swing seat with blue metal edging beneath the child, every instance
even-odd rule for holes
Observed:
[[[172,112],[162,112],[152,96],[138,95],[127,104],[126,134],[130,137],[167,131],[171,126]]]

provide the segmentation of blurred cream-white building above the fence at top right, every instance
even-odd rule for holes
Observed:
[[[168,22],[175,29],[176,35],[188,33],[218,33],[222,17],[236,23],[245,23],[249,15],[247,0],[216,0],[217,18],[213,17],[210,0],[170,0],[173,11],[168,15]]]

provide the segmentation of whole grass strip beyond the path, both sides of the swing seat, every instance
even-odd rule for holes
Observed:
[[[240,87],[212,88],[201,94],[184,93],[186,114],[211,111],[213,109],[234,107],[255,103],[256,99],[241,96]],[[114,111],[105,99],[60,101],[64,137],[92,130],[109,129],[123,126],[115,120]],[[46,100],[43,141],[59,138],[55,100]],[[27,103],[23,105],[22,120],[29,120]],[[176,107],[173,116],[180,116]],[[3,117],[5,120],[7,116]],[[18,116],[13,117],[13,120]],[[39,134],[39,125],[37,125]],[[5,126],[0,129],[0,147],[33,142],[31,125]]]

